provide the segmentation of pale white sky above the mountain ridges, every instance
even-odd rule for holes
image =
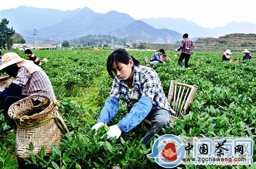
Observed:
[[[0,0],[0,11],[19,6],[61,11],[88,7],[95,13],[126,13],[136,20],[183,18],[203,28],[232,21],[256,24],[256,0]]]

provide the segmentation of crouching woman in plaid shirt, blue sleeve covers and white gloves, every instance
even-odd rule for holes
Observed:
[[[147,148],[169,124],[169,115],[175,114],[170,108],[162,89],[161,81],[154,69],[141,66],[125,49],[116,49],[110,53],[107,60],[108,75],[113,78],[110,97],[105,101],[97,123],[92,127],[96,131],[108,124],[119,110],[119,99],[122,95],[128,113],[116,125],[111,125],[107,131],[108,139],[119,138],[122,132],[128,132],[139,125],[143,119],[152,120],[152,125],[143,138]],[[113,75],[113,72],[115,76]]]

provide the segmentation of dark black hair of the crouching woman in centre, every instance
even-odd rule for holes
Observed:
[[[128,65],[129,60],[133,60],[135,66],[140,65],[140,62],[131,56],[125,49],[120,48],[113,50],[108,56],[107,60],[108,75],[110,75],[112,78],[115,77],[112,72],[112,63],[115,63],[116,65],[118,65],[118,63],[124,63]]]

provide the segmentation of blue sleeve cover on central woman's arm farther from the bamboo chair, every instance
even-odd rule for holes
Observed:
[[[102,122],[102,123],[109,123],[111,119],[115,117],[115,114],[119,110],[119,99],[116,97],[109,97],[105,101],[105,105],[101,110],[101,114],[97,119],[97,122]]]

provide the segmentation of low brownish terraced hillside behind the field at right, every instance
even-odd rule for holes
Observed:
[[[227,49],[240,52],[248,49],[256,52],[256,34],[232,33],[219,38],[199,38],[194,41],[194,51],[223,52]],[[147,49],[175,50],[180,44],[148,44]]]

